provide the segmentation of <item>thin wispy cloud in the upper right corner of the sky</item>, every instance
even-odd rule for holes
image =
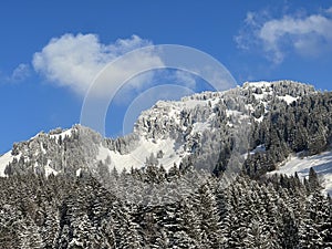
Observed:
[[[332,51],[331,10],[305,15],[284,14],[279,19],[263,12],[248,12],[236,42],[243,50],[262,49],[276,64],[291,52],[319,56]]]

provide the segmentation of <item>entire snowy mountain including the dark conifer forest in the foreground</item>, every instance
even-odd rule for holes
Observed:
[[[116,139],[39,133],[0,156],[0,248],[331,248],[331,113],[332,93],[256,82]]]

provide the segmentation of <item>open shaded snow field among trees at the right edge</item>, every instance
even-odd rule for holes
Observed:
[[[324,187],[324,191],[332,195],[332,152],[324,152],[320,155],[309,156],[300,158],[298,156],[291,156],[283,166],[269,174],[286,174],[288,176],[298,175],[301,179],[308,178],[309,169],[313,168],[320,176],[321,184]]]

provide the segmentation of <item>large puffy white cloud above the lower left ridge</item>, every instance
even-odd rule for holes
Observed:
[[[103,44],[95,34],[64,34],[52,39],[41,52],[33,55],[33,68],[48,81],[60,86],[68,86],[84,95],[98,72],[110,62],[124,53],[152,42],[137,35],[129,39],[118,39],[111,44]],[[113,79],[137,72],[143,64],[162,66],[163,62],[152,53],[136,54],[117,65],[112,72]],[[139,87],[144,81],[131,81],[133,87]],[[102,84],[97,93],[103,96],[110,85]]]

